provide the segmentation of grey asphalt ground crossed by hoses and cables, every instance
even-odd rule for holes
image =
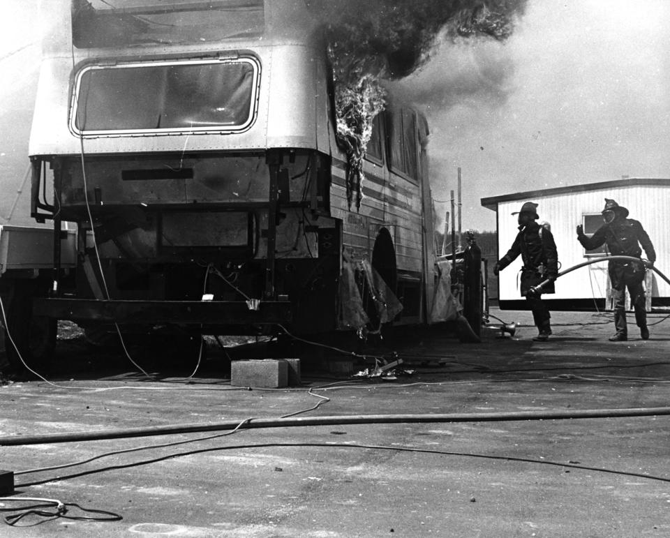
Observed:
[[[0,438],[294,413],[668,405],[665,315],[650,315],[648,341],[633,326],[630,341],[611,343],[611,316],[554,313],[554,334],[540,343],[531,340],[529,313],[491,313],[516,322],[513,337],[484,328],[482,343],[460,343],[444,327],[394,329],[384,341],[355,346],[367,359],[304,345],[302,386],[280,390],[230,386],[227,359],[262,354],[250,346],[212,350],[186,380],[195,357],[181,368],[151,364],[156,377],[149,380],[118,350],[60,341],[48,383],[0,386]],[[335,343],[355,345],[345,338]],[[373,367],[373,356],[380,364],[395,357],[405,363],[384,379],[345,373]],[[99,521],[111,516],[75,506],[61,515],[92,519],[70,519],[40,508],[17,521],[22,528],[0,522],[0,535],[668,536],[669,441],[670,418],[652,416],[328,424],[3,446],[0,468],[16,474],[13,498],[56,499],[122,519]],[[173,445],[155,447],[165,444]],[[53,469],[58,465],[72,466]],[[13,511],[0,515],[34,504],[3,500],[0,508]]]

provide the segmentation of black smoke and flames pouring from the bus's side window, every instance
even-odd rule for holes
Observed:
[[[385,106],[382,80],[399,80],[429,61],[438,40],[504,40],[526,0],[376,0],[329,3],[326,37],[333,67],[338,141],[348,156],[347,193],[359,209],[372,120]],[[435,91],[435,90],[433,90]],[[464,89],[463,91],[468,91]]]

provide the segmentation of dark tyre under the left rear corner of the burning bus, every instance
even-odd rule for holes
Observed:
[[[35,281],[15,281],[4,304],[7,327],[4,331],[5,350],[14,370],[43,368],[50,364],[56,346],[57,320],[33,315]]]

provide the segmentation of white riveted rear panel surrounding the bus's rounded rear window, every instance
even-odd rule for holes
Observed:
[[[260,76],[255,118],[241,133],[151,133],[137,135],[78,136],[70,128],[73,110],[72,59],[45,59],[40,72],[38,96],[29,154],[74,155],[132,154],[169,151],[235,151],[240,149],[308,148],[328,154],[329,122],[324,84],[317,82],[325,72],[323,55],[313,47],[274,45],[252,51],[232,50],[240,56],[258,58]],[[151,57],[141,62],[166,57]],[[102,57],[96,61],[107,61]],[[184,58],[188,59],[188,57]],[[124,61],[137,61],[127,58]],[[89,59],[77,63],[75,70],[93,64]],[[319,65],[321,64],[321,65]],[[321,146],[320,146],[321,144]]]

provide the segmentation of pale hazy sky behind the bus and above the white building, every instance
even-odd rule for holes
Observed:
[[[0,19],[12,22],[0,33],[0,223],[32,223],[24,180],[36,3],[0,1]],[[441,43],[397,84],[430,124],[433,197],[447,201],[438,213],[449,209],[459,167],[463,230],[479,231],[496,226],[482,197],[670,177],[668,20],[667,0],[528,0],[504,43]]]

